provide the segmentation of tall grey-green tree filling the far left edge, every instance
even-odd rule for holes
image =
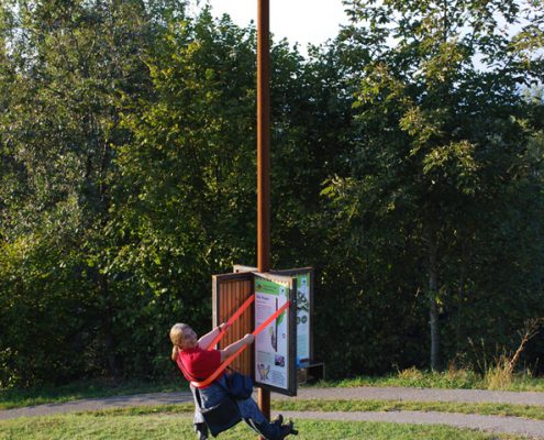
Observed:
[[[51,380],[66,376],[69,369],[58,369],[60,360],[71,362],[71,374],[121,374],[115,315],[130,297],[121,295],[118,274],[110,272],[120,245],[111,228],[111,187],[119,176],[113,145],[129,133],[120,127],[118,101],[122,95],[136,99],[151,92],[143,54],[169,18],[184,14],[184,4],[2,3],[0,238],[21,266],[8,261],[2,270],[22,275],[8,272],[5,279],[13,283],[4,283],[0,295],[9,305],[2,308],[7,322],[19,314],[19,322],[32,323],[30,332],[14,327],[11,340],[2,338],[1,350],[18,356],[18,374],[40,375],[23,369],[38,349],[42,372],[55,372]],[[20,299],[12,301],[18,290]],[[37,310],[48,320],[37,319]],[[69,346],[68,334],[75,336]],[[58,350],[46,350],[54,342]],[[92,353],[85,365],[73,360],[84,351],[80,359]]]

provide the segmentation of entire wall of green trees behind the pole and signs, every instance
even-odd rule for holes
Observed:
[[[543,315],[542,4],[346,7],[271,47],[274,266],[315,266],[333,376],[509,346]],[[0,385],[171,374],[168,328],[255,262],[255,29],[10,0],[0,62]]]

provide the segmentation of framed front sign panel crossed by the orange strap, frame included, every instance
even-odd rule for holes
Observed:
[[[271,274],[254,276],[255,327],[259,327],[286,302],[291,304],[255,341],[255,383],[265,389],[296,396],[297,279]]]

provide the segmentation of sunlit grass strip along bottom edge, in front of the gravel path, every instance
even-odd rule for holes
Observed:
[[[333,422],[296,420],[300,430],[297,440],[374,439],[374,440],[519,440],[522,437],[482,433],[445,426],[396,425],[379,422]],[[0,421],[2,440],[51,439],[142,439],[188,440],[192,433],[191,416],[155,414],[127,416],[104,413],[21,418]],[[220,435],[220,440],[256,438],[244,424]]]

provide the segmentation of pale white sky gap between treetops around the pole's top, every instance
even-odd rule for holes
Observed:
[[[215,16],[229,13],[234,23],[246,26],[257,22],[257,0],[209,0]],[[320,44],[337,35],[345,24],[342,0],[270,0],[270,32],[275,40],[287,37],[299,43],[302,53],[308,43]]]

